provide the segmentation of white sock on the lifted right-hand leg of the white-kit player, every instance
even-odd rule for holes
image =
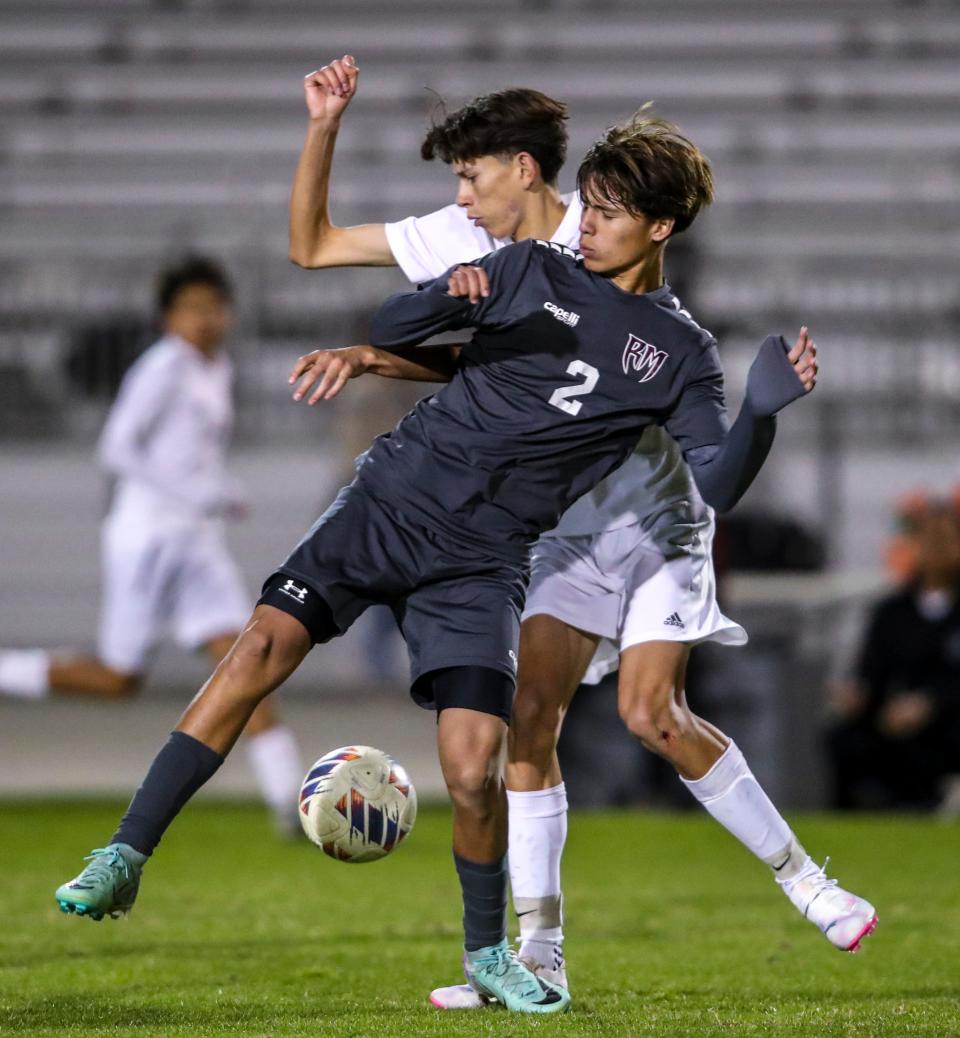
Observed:
[[[802,868],[806,852],[733,740],[703,778],[681,776],[681,782],[728,831],[774,870],[777,879],[787,880]]]

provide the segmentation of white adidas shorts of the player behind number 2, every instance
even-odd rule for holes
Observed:
[[[717,605],[712,545],[712,523],[698,535],[694,551],[670,557],[636,525],[541,538],[523,619],[547,613],[601,636],[586,684],[615,671],[620,653],[641,641],[744,645],[746,631]]]

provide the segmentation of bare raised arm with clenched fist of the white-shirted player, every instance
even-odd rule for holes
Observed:
[[[357,92],[359,69],[350,54],[303,80],[309,124],[290,198],[290,258],[299,267],[391,267],[382,223],[336,227],[330,220],[333,151],[340,117]]]

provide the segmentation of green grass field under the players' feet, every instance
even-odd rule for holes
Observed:
[[[845,955],[709,819],[574,815],[566,858],[574,1009],[443,1013],[460,979],[445,810],[384,862],[277,843],[258,809],[182,816],[125,921],[61,916],[57,884],[117,804],[0,804],[0,1035],[337,1038],[960,1035],[960,826],[796,820],[880,927]]]

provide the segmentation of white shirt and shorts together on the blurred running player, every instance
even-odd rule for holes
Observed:
[[[250,613],[220,518],[240,503],[224,454],[231,365],[169,335],[130,368],[100,441],[116,479],[103,526],[98,652],[135,674],[164,635],[194,649]]]

